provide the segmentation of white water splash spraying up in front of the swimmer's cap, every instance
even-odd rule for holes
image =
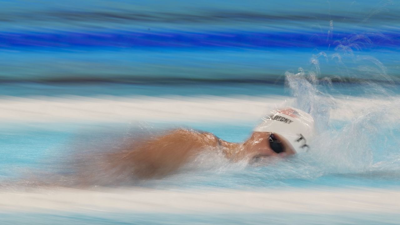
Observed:
[[[354,52],[360,50],[362,44],[372,44],[370,35],[376,34],[355,34],[335,41],[334,53],[320,52],[310,58],[310,70],[299,68],[297,73],[285,74],[286,84],[294,96],[292,105],[309,112],[316,120],[318,135],[311,155],[314,166],[323,171],[322,174],[367,173],[384,170],[388,165],[391,170],[400,169],[397,138],[400,101],[397,94],[387,88],[394,85],[396,78],[387,74],[386,67],[378,59]],[[323,77],[320,58],[326,62],[334,59],[340,71],[347,71],[340,77],[348,78],[320,78]],[[351,63],[345,59],[350,59]],[[350,66],[354,63],[357,64],[355,69]],[[358,74],[354,75],[354,71]],[[349,85],[349,82],[364,91],[350,98],[329,94],[340,93],[335,88]]]

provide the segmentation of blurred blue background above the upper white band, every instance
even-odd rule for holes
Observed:
[[[399,74],[394,1],[1,6],[2,95],[269,94],[264,84],[282,89],[284,73],[299,67],[348,82]]]

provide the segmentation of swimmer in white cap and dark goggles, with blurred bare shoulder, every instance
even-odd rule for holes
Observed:
[[[302,110],[272,110],[244,143],[230,143],[212,133],[178,129],[132,143],[108,165],[141,179],[174,173],[204,151],[222,151],[231,161],[286,157],[307,151],[314,133],[314,119]]]

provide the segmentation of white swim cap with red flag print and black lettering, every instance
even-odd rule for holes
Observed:
[[[307,144],[314,135],[315,122],[307,112],[286,107],[272,110],[262,120],[254,131],[272,132],[284,137],[297,153],[308,150]]]

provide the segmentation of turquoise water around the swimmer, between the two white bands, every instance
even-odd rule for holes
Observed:
[[[10,126],[14,126],[11,128]],[[336,139],[337,135],[346,133],[348,127],[354,124],[336,123],[334,128],[325,131],[319,141],[327,142],[328,139]],[[197,163],[192,163],[182,169],[176,175],[161,180],[136,181],[126,177],[123,183],[113,183],[112,177],[104,177],[100,183],[92,185],[106,186],[140,186],[156,189],[208,189],[227,188],[239,190],[251,190],[253,188],[284,188],[284,187],[373,187],[396,188],[400,185],[398,163],[398,135],[400,129],[383,127],[374,137],[370,131],[365,131],[368,124],[362,125],[359,131],[366,132],[362,137],[354,133],[355,137],[348,139],[338,138],[338,142],[324,144],[330,151],[316,149],[304,155],[298,155],[286,160],[276,161],[272,165],[244,165],[242,163],[230,163],[223,157],[216,155],[204,155]],[[24,124],[18,128],[16,124],[3,127],[1,130],[1,143],[3,163],[0,169],[0,177],[5,183],[10,180],[23,180],[29,184],[35,179],[44,182],[54,182],[47,179],[48,176],[70,175],[74,179],[71,166],[77,165],[74,161],[76,155],[84,155],[85,151],[97,154],[102,151],[110,151],[120,145],[121,139],[134,137],[140,130],[148,129],[152,133],[155,127],[171,128],[176,124],[151,124],[124,125],[124,124]],[[253,124],[224,124],[224,123],[183,123],[178,127],[190,127],[193,129],[209,131],[221,139],[241,142],[248,138]],[[363,128],[364,127],[364,128]],[[362,130],[361,130],[362,129]],[[146,133],[145,132],[145,133]],[[149,133],[149,134],[150,134]],[[133,135],[133,136],[132,136]],[[326,136],[330,137],[326,137]],[[354,141],[353,139],[360,139]],[[362,139],[364,138],[364,139]],[[384,142],[382,142],[384,140]],[[358,146],[364,143],[368,149]],[[345,149],[340,149],[345,146]],[[384,146],[384,149],[382,147]],[[77,152],[78,151],[78,152]],[[342,154],[350,152],[350,155]],[[352,155],[352,152],[354,155]],[[366,157],[365,155],[369,155]],[[331,157],[338,157],[335,161]],[[199,163],[200,162],[200,163]],[[44,172],[46,171],[46,172]],[[50,172],[49,172],[50,171]],[[94,175],[98,172],[93,171]],[[102,176],[102,173],[98,173]],[[35,179],[32,180],[32,177]],[[57,176],[56,176],[57,177]],[[64,178],[65,179],[65,178]],[[107,179],[110,182],[107,182]],[[66,181],[64,184],[69,186]]]

